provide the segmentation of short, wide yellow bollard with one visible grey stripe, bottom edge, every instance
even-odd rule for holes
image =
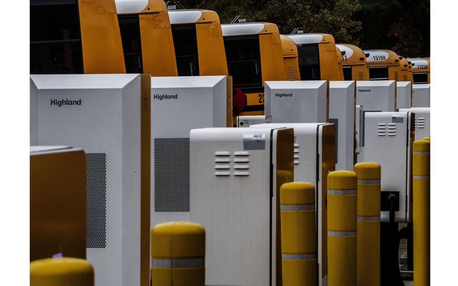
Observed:
[[[205,229],[192,222],[157,224],[151,230],[151,285],[204,286]]]

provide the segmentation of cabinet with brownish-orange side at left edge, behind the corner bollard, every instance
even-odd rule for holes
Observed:
[[[86,159],[69,146],[30,147],[30,261],[86,259]]]

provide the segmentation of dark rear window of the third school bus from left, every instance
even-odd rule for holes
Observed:
[[[178,76],[198,76],[196,25],[172,25],[173,44],[177,59]]]

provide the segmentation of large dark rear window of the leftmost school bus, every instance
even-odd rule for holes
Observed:
[[[83,74],[78,1],[30,1],[30,74]]]

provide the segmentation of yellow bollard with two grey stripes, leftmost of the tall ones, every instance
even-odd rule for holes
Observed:
[[[280,187],[283,285],[317,285],[315,187],[307,182]]]

